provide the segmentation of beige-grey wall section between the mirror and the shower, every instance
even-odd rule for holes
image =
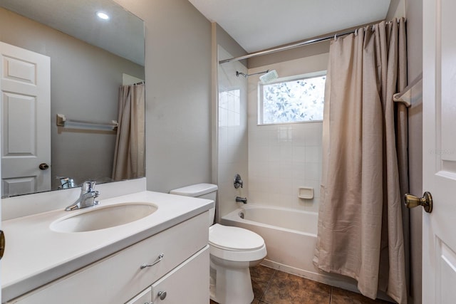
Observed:
[[[115,0],[145,21],[147,189],[211,182],[211,23],[187,0]]]

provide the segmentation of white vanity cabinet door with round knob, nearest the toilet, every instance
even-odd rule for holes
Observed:
[[[155,282],[152,303],[209,303],[209,246]]]

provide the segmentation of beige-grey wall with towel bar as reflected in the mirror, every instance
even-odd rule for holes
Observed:
[[[109,180],[115,133],[58,132],[56,114],[76,120],[117,120],[122,73],[143,78],[142,66],[1,8],[0,41],[51,58],[53,189],[59,184],[56,176],[73,177],[77,183]]]

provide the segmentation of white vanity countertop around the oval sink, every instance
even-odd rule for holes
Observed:
[[[62,233],[49,228],[63,216],[125,202],[148,202],[158,209],[150,216],[108,229]],[[58,209],[3,221],[1,229],[6,236],[6,250],[1,260],[1,302],[201,214],[212,208],[214,202],[145,191],[100,200],[98,206],[78,211]]]

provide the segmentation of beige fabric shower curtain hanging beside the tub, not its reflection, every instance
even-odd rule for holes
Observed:
[[[393,94],[407,83],[406,61],[404,19],[331,41],[314,258],[363,295],[385,290],[398,303],[408,297],[407,110]]]

